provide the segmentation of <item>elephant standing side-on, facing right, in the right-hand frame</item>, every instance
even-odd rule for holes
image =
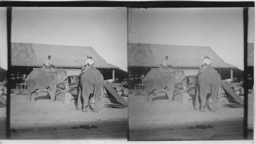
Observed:
[[[173,69],[172,73],[160,72],[159,69],[151,70],[144,77],[142,84],[145,86],[145,97],[148,96],[148,102],[153,103],[152,94],[154,90],[165,89],[168,102],[172,103],[174,92],[186,91],[186,79],[184,71],[181,69]],[[180,89],[175,87],[180,86]]]

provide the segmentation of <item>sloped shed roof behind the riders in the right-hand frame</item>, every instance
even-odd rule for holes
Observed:
[[[165,55],[170,65],[178,68],[199,68],[208,54],[214,68],[237,68],[225,63],[210,47],[128,43],[128,66],[160,67]]]

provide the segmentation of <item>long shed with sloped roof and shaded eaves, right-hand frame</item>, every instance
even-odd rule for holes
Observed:
[[[128,43],[128,71],[129,75],[145,75],[152,68],[160,67],[168,55],[171,66],[182,69],[187,77],[194,76],[202,66],[205,54],[210,57],[211,66],[219,72],[221,79],[243,80],[243,70],[225,63],[214,50],[205,46]]]

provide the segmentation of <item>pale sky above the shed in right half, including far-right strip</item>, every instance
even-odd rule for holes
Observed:
[[[129,13],[129,42],[210,46],[224,62],[244,70],[243,8],[132,9]],[[254,8],[249,10],[248,28],[248,42],[254,43]]]

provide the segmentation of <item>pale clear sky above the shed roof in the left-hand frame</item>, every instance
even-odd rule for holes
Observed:
[[[92,46],[107,63],[127,71],[127,10],[13,8],[11,42]]]

